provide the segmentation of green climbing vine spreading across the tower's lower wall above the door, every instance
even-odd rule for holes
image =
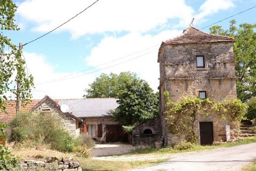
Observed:
[[[227,121],[240,121],[244,118],[247,106],[240,100],[214,102],[210,99],[199,99],[196,96],[185,97],[178,103],[169,98],[169,93],[164,92],[166,98],[166,119],[169,120],[169,131],[181,135],[187,133],[187,141],[196,142],[194,123],[199,116],[207,117],[211,113]],[[183,134],[184,135],[184,134]]]

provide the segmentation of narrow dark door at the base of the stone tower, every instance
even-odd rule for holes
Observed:
[[[201,145],[211,145],[213,143],[212,121],[200,122],[199,129]]]

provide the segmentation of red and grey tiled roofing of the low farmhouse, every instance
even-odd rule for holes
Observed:
[[[26,107],[21,107],[21,112],[33,111],[45,99],[51,99],[45,96],[41,100],[32,100]],[[52,100],[52,99],[51,99]],[[114,110],[118,107],[116,99],[114,98],[97,98],[97,99],[55,99],[58,107],[66,104],[69,107],[68,115],[78,119],[78,117],[103,117],[110,116],[109,110]],[[0,112],[0,123],[8,123],[16,115],[16,101],[6,101],[6,113]]]

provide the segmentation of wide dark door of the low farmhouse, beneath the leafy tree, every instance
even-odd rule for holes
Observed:
[[[128,135],[121,125],[106,125],[106,142],[127,142]]]

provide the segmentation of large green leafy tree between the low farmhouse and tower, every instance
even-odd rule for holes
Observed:
[[[86,89],[85,97],[115,97],[119,106],[110,111],[123,125],[133,125],[158,115],[158,93],[131,72],[101,74]]]

